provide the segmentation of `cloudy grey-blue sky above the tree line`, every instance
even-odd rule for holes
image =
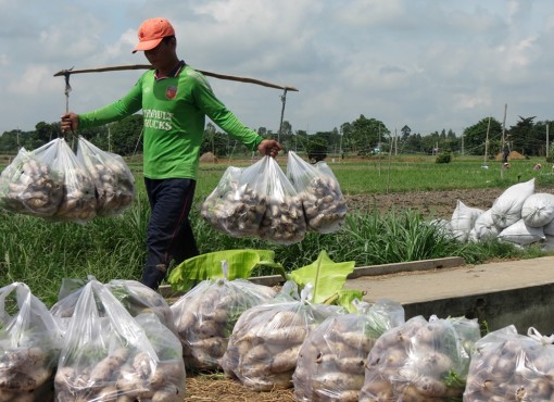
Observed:
[[[143,64],[140,23],[169,18],[193,67],[291,86],[293,130],[339,128],[361,114],[392,131],[461,135],[489,115],[554,120],[552,0],[0,0],[0,134],[59,121],[75,70]],[[76,74],[70,110],[122,97],[140,71]],[[281,95],[210,78],[248,126],[276,131]]]

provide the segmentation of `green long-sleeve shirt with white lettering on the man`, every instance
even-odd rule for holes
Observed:
[[[79,127],[115,122],[141,109],[148,178],[197,178],[205,116],[249,149],[255,150],[262,141],[215,97],[205,77],[188,65],[162,79],[148,71],[121,100],[79,114]]]

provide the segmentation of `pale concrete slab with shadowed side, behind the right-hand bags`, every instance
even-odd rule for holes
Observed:
[[[465,316],[489,330],[515,325],[520,334],[554,334],[554,256],[360,277],[345,288],[366,291],[369,302],[398,301],[406,319]]]

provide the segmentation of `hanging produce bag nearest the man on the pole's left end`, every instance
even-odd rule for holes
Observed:
[[[135,177],[122,156],[106,152],[79,136],[77,159],[88,171],[97,190],[97,215],[114,216],[135,199]]]

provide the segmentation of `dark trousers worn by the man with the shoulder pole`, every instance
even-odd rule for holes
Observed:
[[[144,185],[151,214],[141,282],[158,289],[172,260],[180,264],[199,254],[189,222],[197,183],[188,178],[144,178]]]

